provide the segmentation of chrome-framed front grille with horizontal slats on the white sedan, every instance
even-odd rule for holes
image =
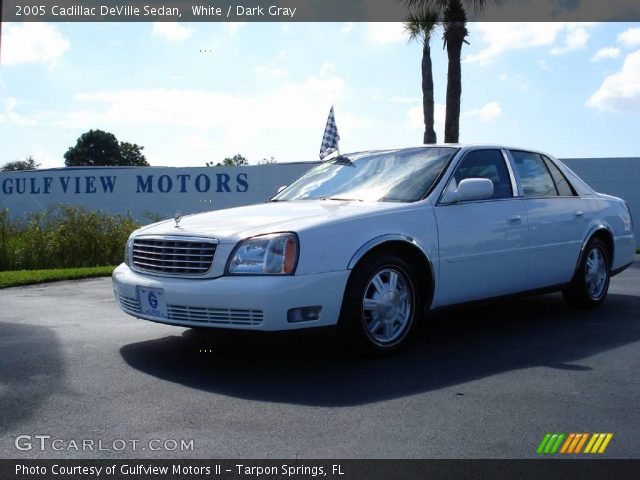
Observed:
[[[194,276],[211,268],[217,241],[188,237],[139,237],[133,240],[133,266],[145,272]]]

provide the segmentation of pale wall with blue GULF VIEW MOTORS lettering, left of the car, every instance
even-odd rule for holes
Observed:
[[[80,167],[0,173],[0,208],[10,217],[61,203],[167,218],[260,203],[314,163],[246,167]]]

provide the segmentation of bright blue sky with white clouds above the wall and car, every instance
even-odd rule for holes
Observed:
[[[640,24],[473,23],[460,141],[640,156]],[[0,164],[64,166],[90,129],[154,166],[318,159],[422,142],[420,43],[397,23],[4,23]],[[432,39],[443,140],[446,52]]]

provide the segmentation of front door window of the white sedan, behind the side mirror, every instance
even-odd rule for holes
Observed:
[[[491,199],[511,198],[511,177],[499,150],[474,150],[465,155],[454,173],[456,185],[465,178],[488,178],[493,182]]]

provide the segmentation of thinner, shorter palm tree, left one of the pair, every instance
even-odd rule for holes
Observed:
[[[413,12],[404,24],[409,33],[409,41],[422,41],[422,113],[424,117],[423,143],[437,142],[434,129],[433,69],[431,63],[431,34],[438,25],[439,15],[434,10],[424,8]]]

